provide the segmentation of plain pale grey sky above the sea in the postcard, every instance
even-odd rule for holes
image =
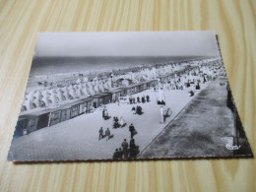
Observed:
[[[220,56],[204,32],[38,32],[34,56]]]

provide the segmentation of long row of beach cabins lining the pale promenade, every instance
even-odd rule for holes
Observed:
[[[90,113],[94,108],[117,101],[120,96],[132,96],[153,88],[157,84],[158,80],[149,80],[127,87],[115,88],[106,93],[96,94],[95,96],[89,96],[77,101],[65,103],[56,108],[46,108],[40,111],[22,114],[19,116],[16,125],[14,140],[41,128],[55,125],[84,113]]]

